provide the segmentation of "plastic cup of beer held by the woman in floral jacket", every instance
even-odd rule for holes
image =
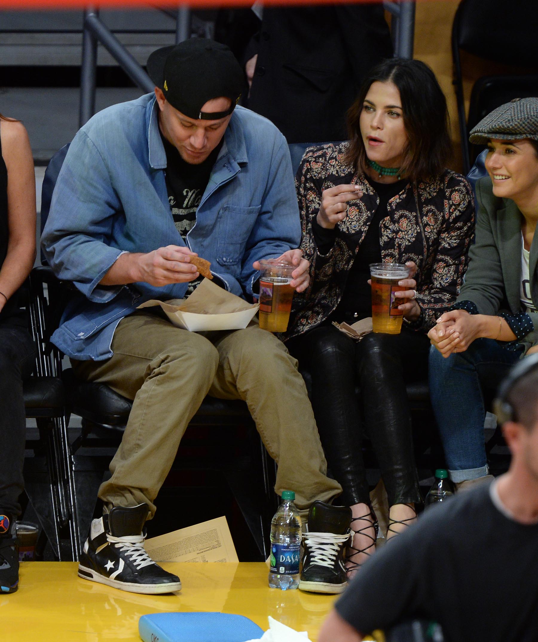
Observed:
[[[403,263],[370,263],[372,277],[372,327],[374,332],[399,334],[403,312],[398,306],[407,299],[397,299],[395,292],[406,290],[398,281],[408,279],[409,268]]]

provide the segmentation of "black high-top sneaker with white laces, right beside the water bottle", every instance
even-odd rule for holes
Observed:
[[[347,575],[343,555],[352,537],[351,508],[315,501],[302,533],[304,554],[299,588],[313,593],[342,593]]]

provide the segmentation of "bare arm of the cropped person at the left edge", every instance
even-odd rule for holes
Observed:
[[[35,261],[35,174],[30,141],[19,121],[0,123],[8,170],[8,251],[0,270],[0,310],[19,289]]]

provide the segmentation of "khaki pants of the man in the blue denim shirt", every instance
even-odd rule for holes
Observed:
[[[76,376],[106,383],[133,399],[125,433],[99,497],[105,507],[154,500],[179,442],[205,395],[243,399],[278,464],[275,492],[295,490],[303,514],[315,499],[342,488],[326,476],[322,451],[297,361],[273,334],[244,330],[194,333],[139,311],[121,320],[106,361],[74,361]]]

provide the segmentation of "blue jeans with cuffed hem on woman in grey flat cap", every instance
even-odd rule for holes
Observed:
[[[444,358],[430,349],[430,395],[446,465],[453,482],[488,473],[484,420],[486,391],[495,392],[521,351],[493,339],[475,339],[465,352]]]

